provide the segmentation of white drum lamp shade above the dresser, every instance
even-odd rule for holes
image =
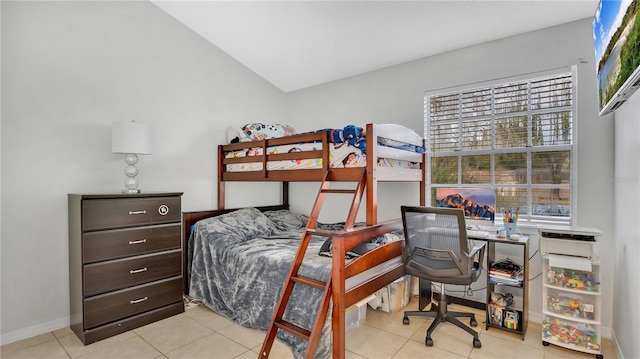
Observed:
[[[140,122],[114,122],[111,152],[151,154],[151,126]]]

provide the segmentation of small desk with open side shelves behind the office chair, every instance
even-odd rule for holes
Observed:
[[[503,330],[515,332],[515,333],[521,334],[522,340],[524,340],[524,336],[525,336],[525,332],[528,324],[528,317],[529,317],[528,310],[527,310],[528,301],[529,301],[529,286],[527,283],[529,278],[529,236],[521,235],[520,238],[518,238],[517,240],[511,240],[506,238],[497,238],[495,234],[491,234],[490,232],[488,233],[489,233],[489,236],[476,235],[475,233],[473,236],[469,236],[469,239],[487,242],[487,248],[486,248],[487,262],[485,266],[485,268],[487,269],[487,276],[486,276],[487,288],[485,291],[484,303],[465,299],[465,298],[459,298],[455,296],[448,296],[447,297],[448,302],[484,310],[485,313],[487,314],[486,329],[489,329],[489,327],[495,327],[495,328],[500,328]],[[496,253],[495,253],[496,245],[521,246],[522,264],[524,266],[524,271],[523,271],[524,280],[522,281],[521,286],[520,285],[507,286],[503,284],[498,284],[496,282],[492,282],[489,279],[488,269],[490,268],[491,263],[495,262],[496,260]],[[489,304],[491,300],[491,292],[493,292],[494,290],[500,291],[500,289],[504,287],[517,288],[522,292],[522,306],[521,307],[519,306],[520,307],[519,309],[521,309],[521,315],[519,317],[520,320],[519,320],[517,329],[510,329],[507,327],[503,327],[502,325],[491,324],[489,321],[490,313],[487,310],[487,304]],[[431,302],[431,295],[432,295],[431,282],[428,280],[421,279],[419,282],[419,302],[418,302],[421,310],[424,309]],[[439,293],[433,293],[433,295],[435,299],[439,299]]]

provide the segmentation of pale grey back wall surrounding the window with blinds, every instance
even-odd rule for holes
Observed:
[[[288,119],[295,126],[320,127],[394,122],[421,132],[425,91],[577,64],[576,225],[596,227],[605,233],[600,246],[604,259],[602,309],[603,333],[609,336],[615,258],[611,181],[614,133],[612,116],[598,116],[594,61],[591,19],[584,19],[289,93]],[[307,197],[314,193],[310,187],[293,187],[292,208],[308,210],[305,193]],[[399,217],[400,204],[417,203],[412,189],[394,184],[387,188],[390,190],[380,190],[380,202],[386,204],[380,207],[383,219]],[[531,253],[537,249],[537,238],[532,238]],[[539,255],[532,259],[531,276],[539,274],[540,262]],[[542,298],[535,290],[541,287],[541,278],[529,284],[530,317],[541,320]]]

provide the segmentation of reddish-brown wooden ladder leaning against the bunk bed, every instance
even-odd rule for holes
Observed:
[[[284,330],[285,332],[293,334],[298,338],[306,340],[308,343],[304,357],[308,359],[313,358],[318,343],[320,342],[322,327],[324,326],[324,322],[327,318],[327,312],[329,311],[329,302],[332,295],[331,275],[329,275],[329,278],[326,282],[323,282],[316,279],[300,276],[298,275],[298,270],[302,265],[302,261],[304,259],[305,253],[307,252],[307,247],[309,246],[311,237],[314,235],[327,238],[331,237],[331,231],[322,231],[315,229],[316,224],[318,223],[318,216],[320,215],[320,210],[322,209],[322,204],[324,202],[325,196],[330,193],[353,194],[353,200],[351,201],[351,207],[349,208],[349,214],[347,215],[347,220],[345,221],[344,227],[345,229],[352,229],[355,225],[356,216],[358,214],[362,195],[367,183],[366,171],[364,169],[362,170],[362,176],[360,177],[358,185],[355,189],[331,189],[331,179],[332,172],[331,170],[328,170],[325,172],[322,179],[320,190],[318,191],[318,196],[316,197],[316,201],[313,204],[313,208],[311,209],[311,214],[309,215],[307,227],[302,234],[300,246],[298,247],[298,251],[296,252],[293,263],[291,264],[289,275],[285,280],[282,293],[280,294],[278,306],[273,313],[271,324],[269,324],[269,328],[267,329],[267,334],[265,336],[264,342],[262,343],[262,348],[260,349],[260,354],[258,356],[259,359],[269,357],[269,352],[271,351],[271,347],[273,345],[273,341],[276,338],[278,329]],[[306,285],[323,291],[322,299],[320,300],[320,304],[318,305],[318,312],[316,314],[313,327],[310,330],[301,328],[283,319],[285,309],[287,307],[287,304],[289,303],[289,298],[291,297],[291,293],[293,292],[294,284]]]

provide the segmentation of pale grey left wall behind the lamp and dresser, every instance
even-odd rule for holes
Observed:
[[[153,127],[143,191],[184,191],[183,210],[211,209],[226,127],[279,121],[285,95],[150,2],[1,10],[5,344],[69,323],[67,193],[124,188],[113,121]],[[273,204],[279,192],[262,196]]]

